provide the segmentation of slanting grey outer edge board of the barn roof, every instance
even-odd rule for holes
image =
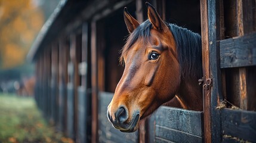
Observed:
[[[61,0],[32,43],[27,60],[35,61],[42,49],[58,36],[67,23],[75,18],[75,15],[85,7],[86,2],[83,0]]]

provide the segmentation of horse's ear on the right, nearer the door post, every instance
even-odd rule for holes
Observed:
[[[156,12],[156,9],[153,7],[153,5],[149,4],[149,2],[146,2],[147,5],[147,16],[149,17],[149,21],[153,24],[153,27],[156,30],[167,32],[168,27],[164,23],[164,21],[159,16],[158,12]]]

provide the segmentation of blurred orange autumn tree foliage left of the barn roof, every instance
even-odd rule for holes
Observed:
[[[0,0],[0,69],[24,64],[44,24],[39,0]]]

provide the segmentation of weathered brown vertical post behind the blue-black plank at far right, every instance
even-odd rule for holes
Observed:
[[[239,36],[243,36],[256,30],[255,12],[255,1],[238,0]],[[256,76],[251,74],[255,70],[255,67],[241,67],[239,69],[240,108],[243,110],[256,110],[256,100],[254,98],[256,89],[250,87],[253,85],[252,80],[256,79]]]

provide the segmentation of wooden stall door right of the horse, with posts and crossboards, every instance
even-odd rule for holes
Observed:
[[[255,1],[201,1],[201,18],[205,142],[255,142]]]

